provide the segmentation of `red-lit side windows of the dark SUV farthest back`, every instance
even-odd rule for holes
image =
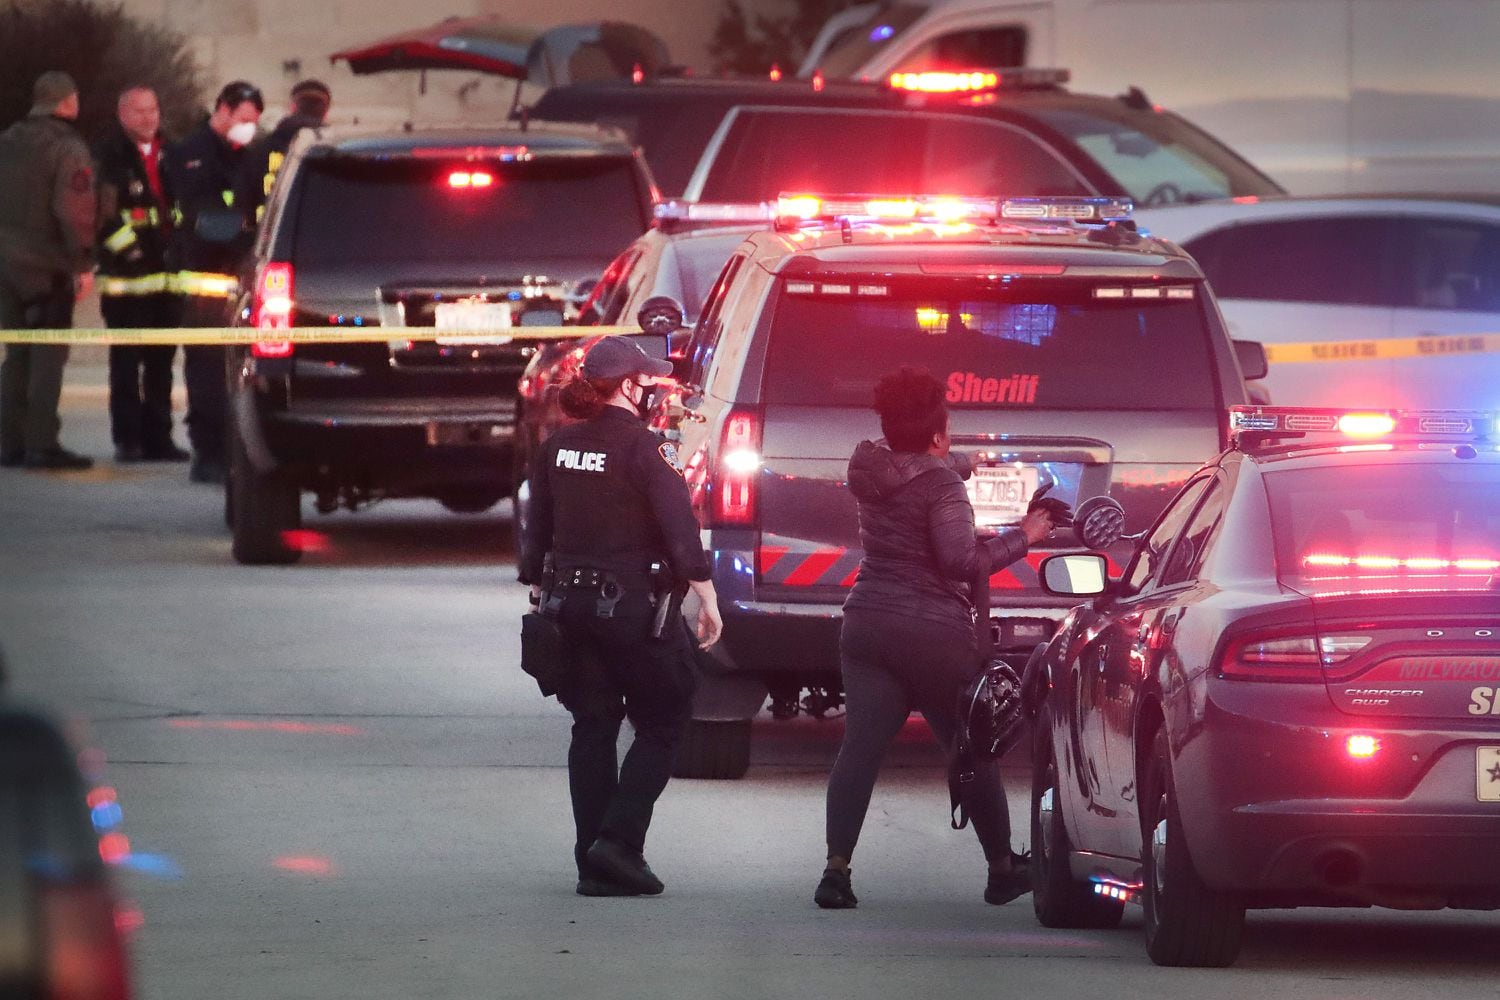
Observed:
[[[1058,153],[1006,123],[910,111],[774,108],[735,115],[699,199],[766,201],[796,190],[1092,193]]]

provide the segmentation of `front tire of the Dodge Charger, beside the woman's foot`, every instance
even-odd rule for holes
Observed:
[[[1036,922],[1053,928],[1119,927],[1124,900],[1094,892],[1072,877],[1068,859],[1072,844],[1058,798],[1058,762],[1052,748],[1052,711],[1036,714],[1032,729],[1032,910]]]

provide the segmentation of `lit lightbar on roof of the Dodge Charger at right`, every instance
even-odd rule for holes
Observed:
[[[1323,435],[1330,441],[1488,441],[1497,414],[1473,409],[1329,409],[1314,406],[1232,406],[1230,438],[1256,444],[1272,438]]]

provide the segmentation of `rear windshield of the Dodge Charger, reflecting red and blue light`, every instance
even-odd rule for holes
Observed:
[[[1500,579],[1500,466],[1266,474],[1281,582],[1310,594],[1461,589]]]

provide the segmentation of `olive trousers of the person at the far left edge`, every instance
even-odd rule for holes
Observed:
[[[63,274],[50,295],[22,301],[0,282],[0,328],[51,330],[74,325],[74,280]],[[40,456],[58,447],[66,343],[10,343],[0,361],[0,454]]]

